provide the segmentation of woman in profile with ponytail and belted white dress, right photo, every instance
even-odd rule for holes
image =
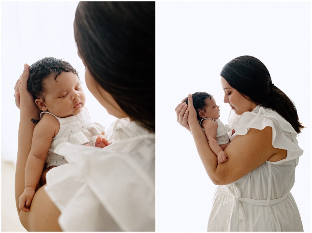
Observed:
[[[271,81],[257,58],[241,56],[221,71],[229,120],[228,161],[218,165],[200,127],[192,96],[176,108],[178,122],[194,137],[199,156],[217,184],[208,231],[303,231],[290,193],[303,151],[296,140],[304,128],[292,101]],[[205,128],[205,123],[203,123]]]

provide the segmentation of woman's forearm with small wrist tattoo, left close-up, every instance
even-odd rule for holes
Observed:
[[[25,188],[25,167],[27,157],[32,146],[32,134],[39,119],[39,115],[35,112],[23,111],[21,107],[20,123],[18,127],[18,140],[17,140],[17,161],[15,172],[15,202],[17,211],[20,212],[18,207],[18,199]],[[35,122],[35,123],[34,123]]]

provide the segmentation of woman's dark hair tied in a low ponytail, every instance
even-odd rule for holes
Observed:
[[[271,108],[288,121],[297,133],[305,128],[294,103],[272,83],[266,66],[252,56],[241,56],[227,63],[220,73],[227,83],[257,105]]]

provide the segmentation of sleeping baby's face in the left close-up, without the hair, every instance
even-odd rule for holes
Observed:
[[[56,81],[54,77],[49,77],[45,86],[44,105],[52,114],[58,117],[69,117],[80,113],[85,106],[85,93],[76,74],[61,72]]]

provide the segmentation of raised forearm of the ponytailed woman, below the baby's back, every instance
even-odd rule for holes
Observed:
[[[204,165],[209,178],[213,183],[216,183],[216,171],[218,166],[217,156],[209,147],[207,137],[198,122],[194,121],[193,123],[189,123],[189,126],[191,128],[197,152],[202,160],[202,164]]]

